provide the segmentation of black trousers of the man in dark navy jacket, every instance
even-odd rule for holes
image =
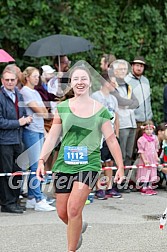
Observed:
[[[0,145],[0,173],[22,171],[17,158],[23,152],[22,144]],[[22,176],[0,176],[0,200],[2,206],[16,204],[19,199]]]

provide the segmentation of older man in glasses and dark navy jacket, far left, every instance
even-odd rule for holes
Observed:
[[[17,74],[4,69],[0,90],[0,173],[22,171],[17,158],[23,152],[22,126],[31,123],[23,106],[23,98],[16,88]],[[19,106],[19,103],[22,103]],[[1,212],[23,213],[18,205],[22,176],[0,176]]]

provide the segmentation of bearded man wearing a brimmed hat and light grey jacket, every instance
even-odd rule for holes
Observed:
[[[134,95],[139,101],[138,108],[135,109],[137,123],[136,137],[133,150],[133,158],[136,159],[137,139],[140,137],[140,126],[153,117],[151,108],[151,92],[149,80],[143,75],[147,67],[144,57],[137,56],[131,62],[132,72],[125,77],[126,83],[130,84]]]

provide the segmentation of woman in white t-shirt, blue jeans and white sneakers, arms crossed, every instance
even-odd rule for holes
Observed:
[[[24,87],[21,93],[26,105],[27,114],[33,117],[33,122],[23,130],[23,142],[29,158],[31,172],[36,172],[38,159],[44,140],[44,119],[48,118],[48,111],[40,94],[35,90],[39,82],[39,70],[35,67],[27,67],[23,71],[22,83]],[[53,211],[55,207],[47,204],[43,199],[41,187],[36,175],[31,173],[28,180],[28,199],[26,208],[36,211]]]

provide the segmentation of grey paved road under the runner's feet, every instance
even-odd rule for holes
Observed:
[[[167,226],[159,229],[159,216],[167,206],[167,192],[121,199],[94,200],[84,208],[89,227],[81,252],[166,252]],[[66,228],[56,212],[27,210],[23,215],[0,213],[0,251],[66,252]]]

